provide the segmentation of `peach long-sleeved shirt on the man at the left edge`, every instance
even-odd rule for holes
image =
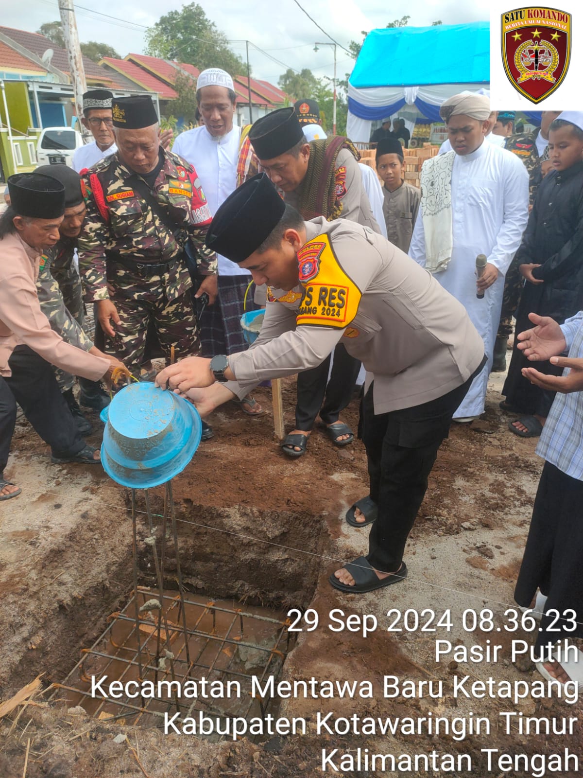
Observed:
[[[18,234],[0,240],[0,375],[9,376],[8,360],[17,345],[27,345],[51,365],[76,376],[97,380],[110,366],[65,343],[40,310],[36,280],[40,253]]]

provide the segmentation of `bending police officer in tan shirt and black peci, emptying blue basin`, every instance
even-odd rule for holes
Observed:
[[[403,550],[438,448],[485,364],[466,310],[367,227],[322,217],[304,222],[266,176],[227,198],[207,245],[270,286],[259,338],[229,357],[183,359],[156,383],[188,393],[204,415],[262,380],[309,370],[344,342],[367,370],[362,422],[370,475],[370,494],[348,510],[347,521],[372,530],[368,555],[337,570],[330,583],[366,592],[403,580]]]

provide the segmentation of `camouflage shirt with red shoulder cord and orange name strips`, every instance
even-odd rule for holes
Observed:
[[[134,190],[133,181],[140,177],[120,162],[117,153],[106,156],[82,177],[87,215],[79,237],[79,269],[86,302],[109,299],[108,259],[110,265],[116,264],[116,255],[144,265],[170,262],[183,253],[188,238],[197,251],[198,272],[216,275],[216,254],[204,245],[211,211],[196,170],[172,152],[162,154],[162,169],[151,191],[161,210],[176,223],[173,233]],[[175,300],[191,286],[183,261],[174,262],[162,278],[168,300]],[[148,279],[144,283],[148,285]]]

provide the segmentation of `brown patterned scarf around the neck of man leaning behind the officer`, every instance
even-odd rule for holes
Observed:
[[[361,158],[351,141],[341,135],[309,145],[308,170],[298,191],[298,210],[306,221],[324,216],[331,222],[342,213],[336,188],[336,158],[340,149],[348,149],[357,161]]]

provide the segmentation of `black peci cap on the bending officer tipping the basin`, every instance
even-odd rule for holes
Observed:
[[[259,173],[219,207],[205,243],[232,262],[243,262],[271,235],[284,211],[285,203],[271,180]]]

